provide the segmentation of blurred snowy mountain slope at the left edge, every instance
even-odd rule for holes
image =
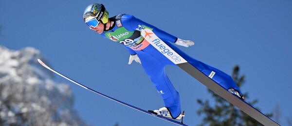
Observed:
[[[0,45],[0,126],[86,126],[68,84],[54,80],[37,59],[42,56],[33,47]]]

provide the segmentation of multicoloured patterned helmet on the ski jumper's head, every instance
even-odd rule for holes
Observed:
[[[94,18],[103,24],[106,24],[109,21],[109,12],[103,4],[93,3],[86,7],[83,13],[83,20],[88,22]]]

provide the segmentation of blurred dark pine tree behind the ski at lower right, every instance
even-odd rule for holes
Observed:
[[[236,65],[233,69],[232,78],[237,83],[240,88],[245,82],[245,76],[239,76],[239,66]],[[239,110],[234,105],[230,104],[228,101],[215,94],[213,91],[208,89],[208,92],[212,94],[215,99],[215,105],[211,106],[209,100],[198,99],[197,102],[201,108],[197,111],[199,115],[204,114],[201,126],[262,126],[255,119]],[[243,93],[245,98],[248,98],[248,93]],[[250,105],[254,106],[258,101],[253,100],[248,102]],[[259,110],[259,108],[256,108]],[[266,114],[271,117],[272,114]]]

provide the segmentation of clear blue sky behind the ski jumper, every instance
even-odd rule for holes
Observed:
[[[35,47],[50,66],[98,92],[136,107],[163,107],[161,96],[128,51],[91,31],[83,22],[87,5],[103,3],[110,16],[134,15],[179,38],[192,40],[184,52],[227,74],[235,65],[246,76],[242,92],[258,99],[263,113],[280,107],[281,125],[292,119],[291,0],[1,0],[0,45]],[[207,88],[178,67],[166,68],[181,95],[184,122],[201,123],[196,100]],[[135,79],[130,79],[134,75]],[[68,83],[80,116],[93,126],[175,126]]]

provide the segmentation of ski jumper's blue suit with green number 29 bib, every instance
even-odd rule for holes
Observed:
[[[180,96],[168,79],[165,73],[165,66],[175,64],[168,60],[161,52],[155,49],[142,37],[140,33],[142,29],[151,29],[169,47],[175,50],[186,61],[191,63],[206,76],[209,76],[226,90],[233,88],[241,94],[236,83],[229,75],[191,58],[179,48],[172,45],[171,43],[176,42],[177,37],[134,16],[118,15],[109,19],[111,22],[110,29],[108,31],[103,31],[101,35],[112,41],[123,44],[128,49],[130,55],[138,55],[146,74],[150,77],[158,93],[163,97],[164,105],[170,111],[173,118],[178,117],[181,113]]]

